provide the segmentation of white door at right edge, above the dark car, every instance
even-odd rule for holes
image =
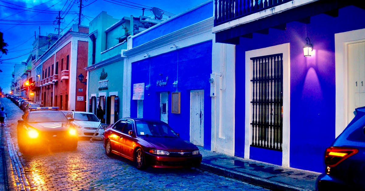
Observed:
[[[348,45],[349,61],[349,115],[354,117],[355,108],[365,106],[365,42]]]

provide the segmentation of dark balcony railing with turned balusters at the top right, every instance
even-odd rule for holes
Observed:
[[[270,9],[291,0],[215,0],[214,26]]]

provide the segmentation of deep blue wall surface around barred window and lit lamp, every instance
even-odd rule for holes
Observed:
[[[245,71],[245,51],[290,43],[290,166],[293,168],[324,172],[324,151],[335,139],[334,34],[365,28],[365,22],[355,19],[364,15],[364,10],[349,6],[340,9],[338,17],[320,14],[312,16],[307,25],[287,23],[285,31],[269,29],[268,35],[254,33],[252,39],[241,38],[236,46],[236,81],[239,81]],[[314,45],[312,57],[303,56],[306,37]],[[236,95],[245,94],[243,85],[236,83]],[[236,97],[236,108],[245,108],[244,100]],[[235,115],[236,127],[244,127],[245,121],[241,120],[244,110],[236,110]],[[244,156],[244,139],[240,139],[244,135],[244,128],[236,128],[236,156]],[[260,152],[270,158],[272,151]],[[262,161],[270,162],[265,158]]]

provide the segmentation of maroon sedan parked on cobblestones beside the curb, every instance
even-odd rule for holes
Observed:
[[[162,121],[123,118],[104,132],[105,154],[117,154],[135,162],[138,169],[190,168],[199,166],[198,147],[184,141]]]

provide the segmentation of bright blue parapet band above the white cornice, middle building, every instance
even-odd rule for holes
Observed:
[[[153,29],[146,31],[137,37],[134,37],[133,47],[145,44],[146,42],[183,29],[184,27],[193,25],[212,16],[213,1],[206,3],[195,10],[189,11],[183,15],[171,19],[168,22],[163,23],[163,25],[155,26]]]

